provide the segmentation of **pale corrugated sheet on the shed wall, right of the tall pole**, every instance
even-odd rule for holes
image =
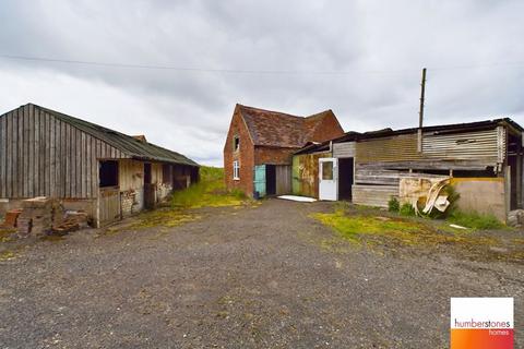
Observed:
[[[492,159],[497,163],[497,129],[454,134],[424,134],[422,153],[426,158]]]

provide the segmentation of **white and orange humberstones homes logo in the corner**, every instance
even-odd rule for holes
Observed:
[[[452,298],[451,349],[513,349],[513,298]]]

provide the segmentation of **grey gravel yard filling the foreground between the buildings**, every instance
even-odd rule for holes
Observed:
[[[0,262],[0,347],[448,348],[450,297],[515,297],[522,329],[523,264],[327,249],[309,215],[331,209],[269,200],[33,243]]]

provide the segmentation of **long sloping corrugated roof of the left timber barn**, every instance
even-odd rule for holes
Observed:
[[[103,142],[106,142],[107,144],[116,147],[117,149],[119,149],[120,152],[127,154],[132,158],[141,159],[141,160],[154,160],[154,161],[171,163],[171,164],[179,164],[179,165],[199,166],[196,163],[194,163],[190,158],[177,152],[163,148],[153,143],[140,141],[133,136],[100,127],[96,123],[92,123],[79,118],[64,115],[56,110],[44,108],[37,105],[33,105],[33,106],[35,108],[39,108],[43,111],[52,115],[55,118],[63,122],[67,122],[82,130],[87,134],[91,134],[92,136]]]

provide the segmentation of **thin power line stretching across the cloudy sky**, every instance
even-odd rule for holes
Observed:
[[[109,67],[109,68],[122,68],[122,69],[144,69],[144,70],[169,70],[178,72],[196,72],[196,73],[228,73],[228,74],[271,74],[271,75],[349,75],[355,73],[365,74],[394,74],[415,72],[418,70],[396,70],[396,71],[362,71],[362,70],[349,70],[349,71],[293,71],[293,70],[239,70],[239,69],[213,69],[213,68],[196,68],[196,67],[176,67],[176,65],[156,65],[156,64],[132,64],[132,63],[115,63],[115,62],[100,62],[100,61],[83,61],[83,60],[69,60],[69,59],[56,59],[44,57],[29,57],[29,56],[14,56],[14,55],[0,55],[0,58],[9,60],[23,60],[23,61],[38,61],[49,63],[66,63],[78,65],[94,65],[94,67]],[[461,70],[461,69],[478,69],[478,68],[503,68],[503,67],[519,67],[524,65],[524,61],[520,62],[500,62],[500,63],[486,63],[486,64],[472,64],[472,65],[451,65],[451,67],[429,67],[430,70]]]

